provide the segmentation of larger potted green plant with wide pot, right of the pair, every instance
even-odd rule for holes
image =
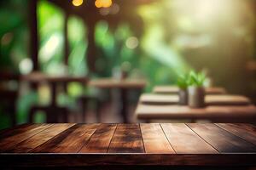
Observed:
[[[203,87],[206,76],[204,73],[189,73],[189,107],[201,108],[205,106],[205,88]]]

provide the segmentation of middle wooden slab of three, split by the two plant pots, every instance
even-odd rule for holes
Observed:
[[[148,105],[178,104],[177,94],[142,94],[139,102]],[[251,100],[241,95],[206,95],[206,105],[251,105]]]

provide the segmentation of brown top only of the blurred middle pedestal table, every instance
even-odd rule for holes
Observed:
[[[101,78],[90,80],[89,85],[96,88],[144,88],[147,82],[136,79]]]

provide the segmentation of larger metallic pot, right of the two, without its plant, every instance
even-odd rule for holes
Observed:
[[[205,88],[189,87],[189,107],[201,108],[205,106]]]

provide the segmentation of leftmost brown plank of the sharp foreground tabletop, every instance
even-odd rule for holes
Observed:
[[[22,128],[22,130],[17,129],[17,131],[14,132],[14,135],[1,139],[0,152],[9,150],[14,145],[31,138],[35,134],[42,132],[44,129],[51,127],[52,125],[53,124],[32,124],[29,127]]]

